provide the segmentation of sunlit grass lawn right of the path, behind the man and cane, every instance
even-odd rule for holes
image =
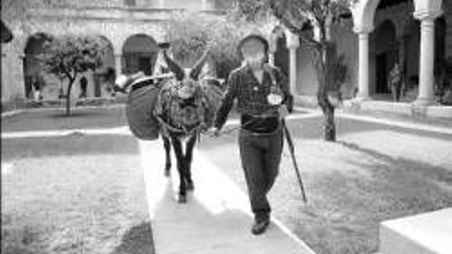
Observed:
[[[311,124],[299,122],[308,132]],[[307,205],[287,149],[270,193],[276,218],[319,254],[374,253],[380,222],[452,206],[452,137],[350,129],[337,143],[296,139]],[[201,150],[246,190],[235,135],[204,140]]]

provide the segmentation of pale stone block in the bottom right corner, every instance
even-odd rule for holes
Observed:
[[[382,222],[380,253],[452,253],[452,208]]]

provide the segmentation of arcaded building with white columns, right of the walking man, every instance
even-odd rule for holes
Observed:
[[[347,67],[343,97],[392,100],[389,72],[397,62],[406,91],[401,102],[435,104],[440,79],[452,82],[452,3],[447,2],[361,0],[351,7],[349,18],[331,24],[329,36]],[[315,103],[313,51],[284,29],[275,29],[272,38],[273,61],[291,76],[293,93]]]

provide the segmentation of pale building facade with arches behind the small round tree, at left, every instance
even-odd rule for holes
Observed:
[[[50,36],[100,36],[109,47],[99,72],[114,69],[117,74],[127,74],[142,70],[152,74],[159,50],[157,45],[165,41],[165,21],[174,10],[202,11],[204,15],[215,16],[232,3],[218,0],[68,0],[48,6],[45,2],[29,1],[26,13],[5,21],[14,40],[2,45],[2,107],[33,99],[36,74],[44,77],[45,86],[41,88],[44,100],[58,99],[64,93],[67,81],[45,73],[37,58],[45,51],[44,43]],[[87,72],[79,75],[72,88],[73,97],[81,94],[82,76],[88,80],[88,97],[111,96],[99,78],[100,73]]]

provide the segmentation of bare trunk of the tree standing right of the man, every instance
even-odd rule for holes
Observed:
[[[331,82],[331,73],[329,69],[329,45],[323,44],[322,49],[319,49],[319,58],[317,59],[316,69],[318,73],[318,91],[317,101],[321,107],[324,122],[323,134],[326,141],[336,141],[336,125],[334,123],[334,106],[328,99],[328,88]]]

